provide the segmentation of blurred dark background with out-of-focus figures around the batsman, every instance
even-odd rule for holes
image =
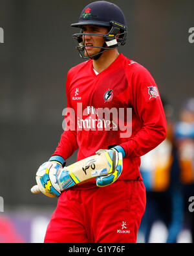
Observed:
[[[193,242],[194,1],[111,2],[129,28],[119,51],[153,75],[169,124],[166,142],[142,158],[147,208],[138,242]],[[43,242],[57,200],[30,188],[63,132],[67,71],[83,61],[70,24],[89,3],[0,0],[0,242]],[[76,152],[67,165],[74,161]]]

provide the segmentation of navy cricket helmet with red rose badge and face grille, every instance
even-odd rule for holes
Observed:
[[[83,25],[98,25],[108,28],[107,34],[89,34],[83,33],[81,30],[80,33],[73,34],[72,37],[78,41],[78,46],[76,49],[80,52],[80,57],[82,58],[94,58],[97,59],[101,56],[103,51],[109,49],[114,49],[120,45],[125,45],[127,38],[127,25],[124,13],[122,10],[113,3],[107,1],[95,1],[83,8],[78,23],[71,24],[72,27],[81,27]],[[101,49],[100,53],[97,55],[92,55],[85,57],[83,54],[85,49],[83,36],[103,36],[105,44],[103,47],[98,47]],[[95,46],[93,46],[95,47]],[[86,51],[87,52],[87,51]]]

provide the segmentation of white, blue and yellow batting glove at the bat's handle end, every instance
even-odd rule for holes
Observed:
[[[55,161],[44,162],[36,173],[39,190],[49,198],[58,197],[61,188],[58,185],[58,175],[63,170],[62,164]]]

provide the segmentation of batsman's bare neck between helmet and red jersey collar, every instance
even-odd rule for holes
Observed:
[[[117,49],[105,51],[98,60],[92,60],[94,70],[98,73],[102,72],[108,68],[119,55],[120,53],[118,53]]]

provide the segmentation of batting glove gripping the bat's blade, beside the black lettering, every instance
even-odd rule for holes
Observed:
[[[114,150],[116,151],[116,149],[111,148],[109,150],[107,149],[100,149],[96,152],[97,155],[100,155],[101,153],[104,153],[105,151],[110,151],[110,150]],[[108,186],[114,183],[114,181],[116,181],[116,179],[118,179],[118,177],[120,176],[120,174],[122,173],[122,169],[123,169],[123,156],[122,153],[119,153],[118,151],[116,151],[116,162],[115,162],[115,171],[109,175],[106,176],[100,176],[96,178],[96,185],[97,186]]]

